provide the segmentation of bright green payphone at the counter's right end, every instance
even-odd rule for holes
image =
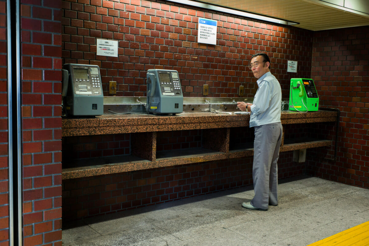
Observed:
[[[314,81],[309,78],[292,78],[289,104],[289,109],[292,111],[317,111],[319,108],[319,97]]]

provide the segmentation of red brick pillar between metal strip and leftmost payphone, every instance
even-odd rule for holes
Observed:
[[[61,1],[22,1],[24,245],[61,245],[61,17]]]

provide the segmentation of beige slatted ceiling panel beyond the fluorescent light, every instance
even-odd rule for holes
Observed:
[[[345,6],[348,6],[348,1],[353,0],[331,0],[331,3],[320,0],[201,0],[221,7],[298,22],[294,26],[313,31],[369,25],[369,14],[364,13],[369,1],[356,0],[355,6],[360,8],[358,10],[345,8],[344,4],[346,2]]]

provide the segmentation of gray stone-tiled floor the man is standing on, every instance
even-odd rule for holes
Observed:
[[[282,180],[279,205],[248,210],[242,187],[63,222],[63,246],[306,246],[369,221],[369,190],[303,176]]]

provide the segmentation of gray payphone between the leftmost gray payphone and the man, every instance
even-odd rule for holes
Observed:
[[[176,70],[149,69],[146,79],[147,112],[158,114],[183,112],[183,94]]]

